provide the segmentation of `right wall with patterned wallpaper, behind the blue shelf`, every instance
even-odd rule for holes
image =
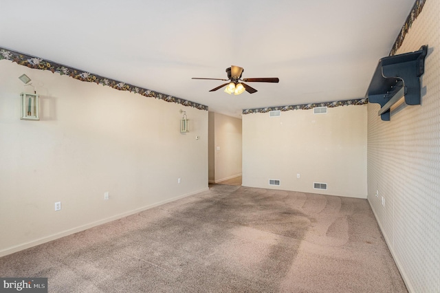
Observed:
[[[421,105],[400,105],[387,122],[368,106],[368,200],[410,292],[440,292],[439,14],[426,1],[397,50],[428,45]]]

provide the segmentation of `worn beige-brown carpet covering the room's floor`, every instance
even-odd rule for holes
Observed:
[[[49,292],[407,292],[366,199],[214,184],[0,258]]]

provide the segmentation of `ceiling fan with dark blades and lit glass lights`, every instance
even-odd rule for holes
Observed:
[[[229,83],[223,83],[223,85],[220,85],[219,87],[215,87],[214,89],[211,89],[210,91],[217,91],[217,89],[221,89],[225,85],[228,85],[226,87],[225,92],[228,94],[234,94],[239,95],[243,93],[243,91],[248,91],[249,94],[256,93],[256,89],[253,87],[250,87],[249,85],[246,85],[243,83],[245,81],[246,83],[278,83],[280,80],[277,77],[270,77],[270,78],[243,78],[241,79],[241,75],[243,74],[245,70],[243,67],[234,66],[226,68],[226,73],[228,74],[228,79],[223,78],[202,78],[202,77],[193,77],[192,79],[210,79],[210,80],[230,80]]]

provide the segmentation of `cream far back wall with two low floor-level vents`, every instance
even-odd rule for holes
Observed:
[[[243,115],[243,186],[366,198],[366,105],[327,110]]]

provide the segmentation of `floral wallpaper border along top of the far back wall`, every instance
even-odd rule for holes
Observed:
[[[245,109],[243,110],[243,114],[250,113],[267,113],[269,111],[290,111],[290,110],[308,110],[314,109],[315,107],[340,107],[340,106],[349,106],[349,105],[364,105],[368,103],[367,98],[360,98],[355,100],[338,100],[336,102],[314,102],[310,104],[302,104],[302,105],[288,105],[288,106],[278,106],[278,107],[265,107],[265,108],[256,108],[256,109]]]

